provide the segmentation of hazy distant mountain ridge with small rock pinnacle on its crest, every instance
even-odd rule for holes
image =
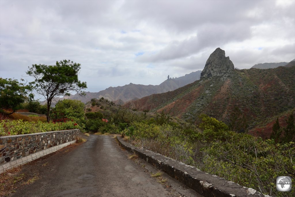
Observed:
[[[162,82],[160,85],[141,85],[141,84],[128,84],[118,87],[109,87],[99,92],[86,92],[86,96],[82,97],[78,94],[71,96],[64,96],[62,99],[76,99],[82,102],[88,102],[92,98],[101,98],[116,101],[116,103],[122,104],[129,100],[140,99],[142,97],[168,92],[175,90],[179,87],[183,87],[200,79],[201,71],[191,72],[185,76],[169,78]]]

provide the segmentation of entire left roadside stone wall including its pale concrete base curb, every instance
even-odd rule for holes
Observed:
[[[0,137],[0,173],[76,142],[79,129]]]

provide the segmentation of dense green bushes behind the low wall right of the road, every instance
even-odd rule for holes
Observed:
[[[183,129],[185,127],[169,121],[162,125],[146,121],[131,123],[122,134],[138,147],[194,165],[264,194],[283,196],[276,192],[276,176],[294,177],[294,142],[264,141],[229,131],[226,124],[215,118],[206,115],[199,118],[199,132]],[[294,194],[292,191],[287,196]]]

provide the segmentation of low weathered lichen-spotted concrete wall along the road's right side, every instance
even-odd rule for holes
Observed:
[[[186,165],[161,154],[140,149],[133,146],[121,137],[117,136],[119,144],[129,152],[137,154],[139,157],[150,163],[151,165],[163,170],[179,182],[194,189],[203,196],[208,197],[251,197],[251,196],[268,196],[252,188],[243,187],[232,181],[225,180],[216,175],[210,175],[202,172],[196,167]],[[269,197],[269,196],[268,196]]]

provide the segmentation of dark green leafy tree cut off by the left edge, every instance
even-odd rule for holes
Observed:
[[[23,82],[24,80],[21,79]],[[32,91],[32,86],[19,83],[16,79],[0,78],[0,108],[12,108],[14,113],[28,97],[28,91]],[[29,97],[33,97],[29,94]],[[9,114],[12,114],[9,113]]]

